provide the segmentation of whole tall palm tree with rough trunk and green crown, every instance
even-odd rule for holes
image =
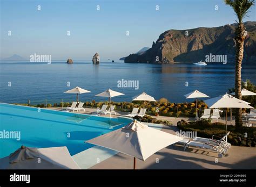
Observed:
[[[242,19],[247,17],[248,10],[254,5],[254,0],[224,0],[226,5],[230,5],[238,18],[238,26],[235,28],[235,97],[242,99],[241,95],[241,66],[244,57],[244,40],[246,38],[246,28]],[[235,111],[235,127],[242,126],[242,109]]]

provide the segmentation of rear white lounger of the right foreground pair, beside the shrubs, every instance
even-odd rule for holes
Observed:
[[[228,149],[228,148],[231,148],[231,144],[226,141],[226,137],[227,137],[229,134],[230,134],[230,132],[226,133],[223,137],[219,137],[219,136],[213,135],[213,136],[212,136],[212,139],[210,139],[210,138],[196,137],[196,138],[193,139],[193,141],[208,143],[208,144],[212,144],[212,145],[214,145],[215,143],[219,142],[219,146]],[[218,138],[220,138],[220,139],[219,139],[219,140],[214,139],[214,136],[215,136],[215,137],[218,137]]]

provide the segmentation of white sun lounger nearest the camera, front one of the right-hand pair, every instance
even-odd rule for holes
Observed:
[[[198,142],[198,141],[190,141],[186,143],[184,150],[186,150],[187,147],[199,147],[203,149],[210,149],[210,150],[214,150],[214,152],[217,152],[218,157],[222,158],[227,153],[227,148],[219,146],[219,143],[220,143],[220,140],[218,142],[215,142],[214,144]]]

